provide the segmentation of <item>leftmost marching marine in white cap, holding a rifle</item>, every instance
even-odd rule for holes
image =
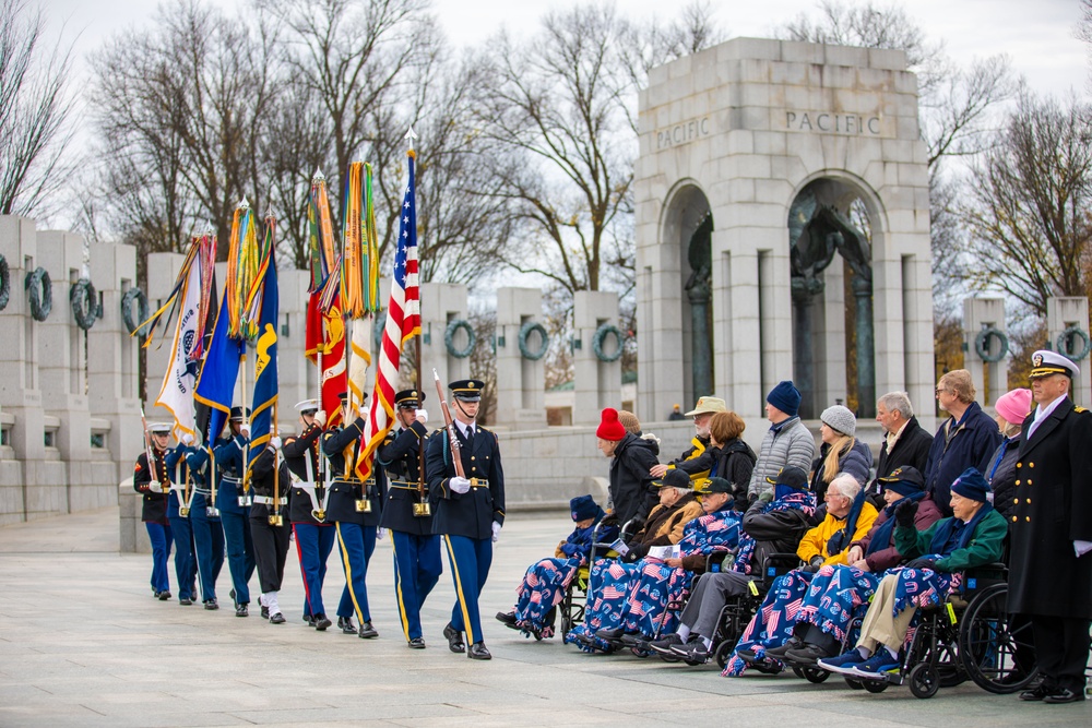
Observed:
[[[136,457],[133,468],[133,490],[142,493],[141,521],[147,529],[152,542],[152,595],[159,601],[170,598],[170,575],[167,559],[170,558],[170,522],[167,520],[167,493],[170,477],[164,455],[170,439],[170,425],[155,423],[147,428],[152,441],[152,460],[147,462],[147,449]]]

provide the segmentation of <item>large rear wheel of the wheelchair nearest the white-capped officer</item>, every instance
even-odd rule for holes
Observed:
[[[1019,665],[1021,657],[1034,655],[1031,622],[1011,619],[1007,598],[1007,584],[980,592],[963,614],[959,635],[961,667],[976,685],[997,694],[1024,690],[1036,672],[1034,665]]]

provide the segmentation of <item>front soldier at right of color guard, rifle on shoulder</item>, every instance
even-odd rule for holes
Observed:
[[[466,652],[472,659],[490,659],[482,633],[478,595],[489,576],[492,544],[505,523],[505,472],[500,465],[497,435],[478,426],[478,404],[485,383],[476,379],[451,382],[454,437],[463,464],[461,478],[451,458],[447,430],[429,438],[425,457],[428,497],[432,505],[432,533],[443,536],[456,601],[451,622],[443,628],[448,648]],[[463,643],[463,630],[471,647]]]

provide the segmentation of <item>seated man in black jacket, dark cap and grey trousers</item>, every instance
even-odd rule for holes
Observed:
[[[732,571],[705,574],[697,581],[678,630],[650,643],[654,652],[665,658],[686,657],[695,665],[707,661],[722,607],[752,586],[751,565],[761,570],[768,556],[792,553],[799,547],[816,511],[815,496],[807,490],[808,475],[803,468],[785,467],[776,478],[767,480],[773,489],[744,515]]]

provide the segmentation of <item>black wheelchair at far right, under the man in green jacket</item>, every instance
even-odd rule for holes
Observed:
[[[1005,564],[969,572],[958,593],[921,610],[898,670],[876,678],[846,676],[846,684],[870,693],[905,684],[919,699],[968,679],[997,694],[1024,690],[1036,673],[1032,628],[1011,619],[1007,597]]]

